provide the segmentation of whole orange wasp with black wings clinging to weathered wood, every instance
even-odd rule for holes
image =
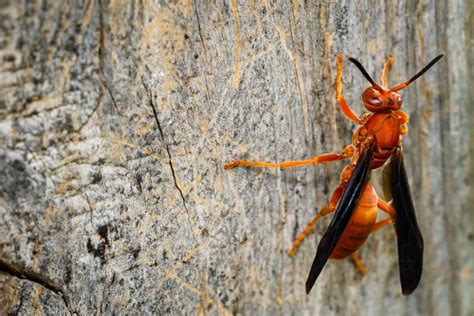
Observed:
[[[406,88],[423,75],[444,55],[433,59],[409,80],[392,88],[387,88],[388,71],[392,65],[389,57],[382,75],[382,84],[375,83],[364,67],[354,58],[354,63],[371,86],[362,94],[362,102],[369,111],[357,116],[342,96],[341,55],[337,58],[336,97],[342,113],[359,125],[352,136],[352,144],[340,153],[329,153],[308,160],[281,163],[236,160],[226,164],[225,169],[235,167],[279,167],[292,168],[315,165],[351,158],[351,162],[341,174],[341,182],[334,191],[328,207],[316,214],[303,232],[296,238],[288,255],[293,256],[303,239],[311,232],[323,216],[335,212],[328,229],[319,243],[308,279],[306,293],[311,291],[316,279],[329,258],[343,259],[352,256],[356,267],[362,273],[367,269],[356,255],[356,251],[367,240],[370,233],[387,224],[394,223],[397,234],[398,262],[403,295],[411,294],[421,278],[423,267],[423,238],[416,222],[415,210],[410,195],[408,179],[403,164],[402,135],[408,132],[408,115],[400,107],[402,97],[398,91]],[[387,191],[391,195],[389,204],[377,196],[369,184],[370,172],[385,166]],[[393,206],[392,206],[393,205]],[[388,213],[389,218],[376,222],[377,209]]]

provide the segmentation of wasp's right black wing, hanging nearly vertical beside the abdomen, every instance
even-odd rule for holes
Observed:
[[[396,148],[391,158],[392,196],[395,230],[398,242],[398,263],[403,295],[411,294],[421,278],[423,268],[423,237],[416,223],[415,208],[410,195],[402,149]]]

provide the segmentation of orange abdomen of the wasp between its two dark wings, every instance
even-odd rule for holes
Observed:
[[[377,219],[377,199],[374,188],[367,184],[349,224],[330,256],[331,259],[346,258],[367,240]]]

